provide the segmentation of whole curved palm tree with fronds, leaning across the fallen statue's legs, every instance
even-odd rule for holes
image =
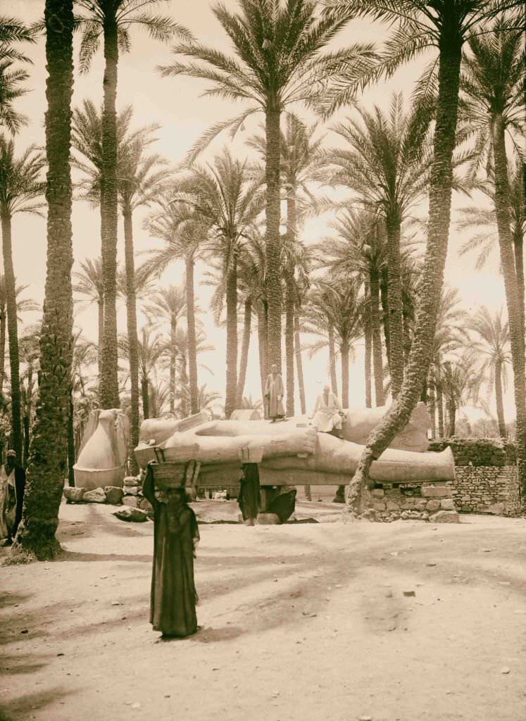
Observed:
[[[349,488],[349,505],[361,509],[361,491],[369,482],[372,461],[389,445],[396,433],[408,423],[421,394],[431,362],[434,329],[442,293],[444,265],[450,230],[453,182],[453,151],[457,134],[460,64],[463,44],[474,35],[488,17],[505,9],[507,2],[494,0],[326,0],[325,12],[336,17],[371,17],[394,26],[380,59],[369,69],[346,66],[346,87],[338,92],[331,105],[349,102],[359,87],[380,76],[391,76],[403,63],[416,58],[429,47],[437,48],[427,83],[421,85],[424,95],[437,89],[433,160],[429,172],[428,238],[422,280],[418,293],[418,311],[413,343],[408,358],[403,386],[382,422],[369,436],[364,453]],[[511,23],[516,19],[512,18]],[[435,74],[436,73],[436,74]],[[342,87],[342,78],[339,86]]]

